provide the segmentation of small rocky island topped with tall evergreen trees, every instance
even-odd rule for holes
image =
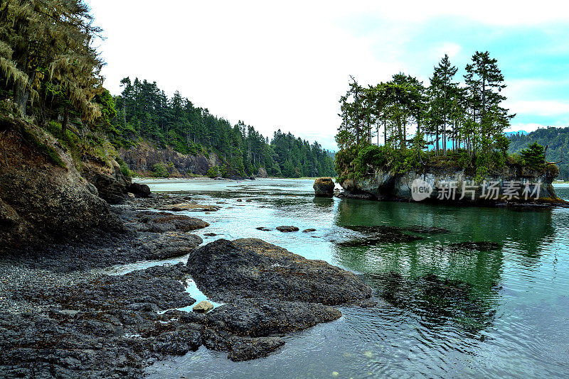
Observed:
[[[465,71],[457,82],[445,55],[428,87],[403,73],[368,87],[351,77],[336,134],[344,196],[419,199],[413,194],[422,185],[427,201],[562,202],[551,186],[558,167],[546,162],[543,146],[508,153],[504,131],[515,115],[502,106],[497,60],[476,52]]]

